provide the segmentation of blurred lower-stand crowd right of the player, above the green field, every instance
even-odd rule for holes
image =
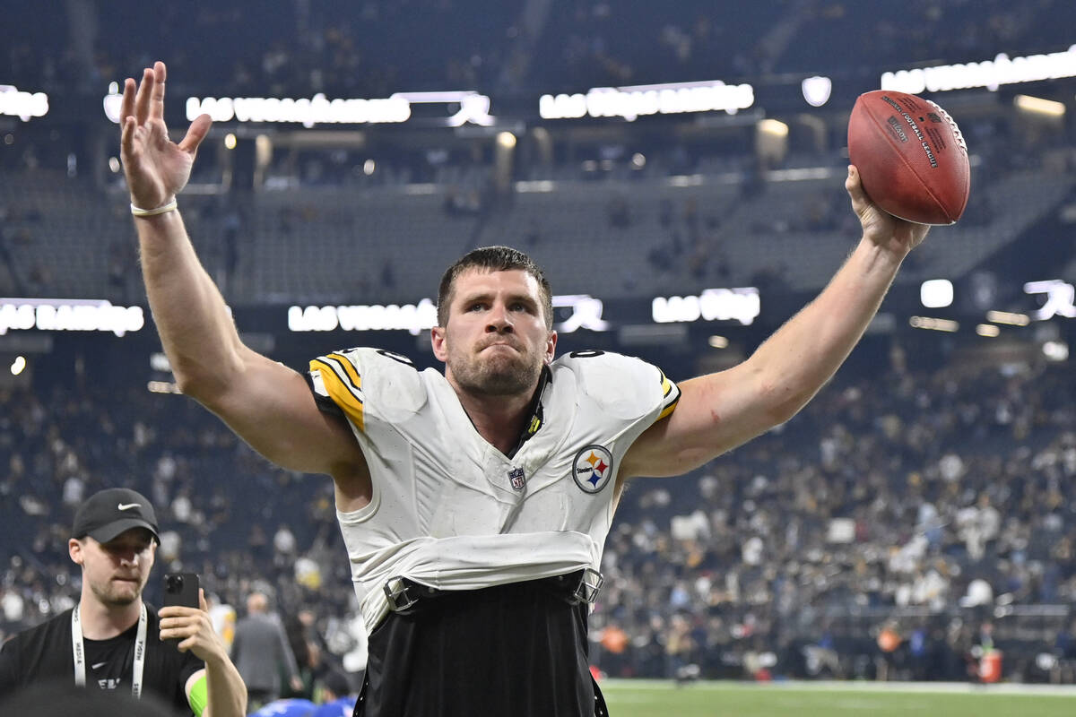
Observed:
[[[903,677],[961,679],[997,606],[1040,603],[1056,632],[1003,622],[1006,647],[1076,657],[1070,373],[845,382],[698,475],[629,487],[593,623],[613,672],[875,676],[888,629]]]

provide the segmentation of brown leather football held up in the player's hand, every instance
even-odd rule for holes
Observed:
[[[964,213],[967,145],[952,117],[930,100],[887,89],[860,95],[848,119],[848,158],[867,196],[893,216],[945,225]]]

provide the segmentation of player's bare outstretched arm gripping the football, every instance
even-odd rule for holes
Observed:
[[[625,456],[627,477],[681,475],[789,420],[851,353],[928,227],[877,209],[854,168],[845,186],[863,226],[848,260],[749,359],[680,383],[676,411],[648,429]]]

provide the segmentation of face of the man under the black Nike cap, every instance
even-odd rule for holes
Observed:
[[[88,535],[68,543],[71,559],[82,565],[82,579],[105,606],[129,605],[142,597],[157,543],[145,528],[126,530],[108,543]]]

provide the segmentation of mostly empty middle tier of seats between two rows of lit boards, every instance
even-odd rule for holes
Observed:
[[[524,182],[510,201],[475,211],[453,211],[452,185],[441,183],[183,201],[214,277],[228,273],[226,288],[239,304],[416,301],[463,252],[497,243],[532,253],[560,293],[621,298],[760,281],[793,291],[824,286],[858,236],[843,168],[773,170],[746,195],[745,180],[734,176]],[[1071,175],[1042,169],[977,178],[982,198],[966,221],[938,230],[898,283],[967,275],[1057,209],[1074,185]],[[110,273],[117,254],[133,267],[123,195],[102,201],[84,181],[41,169],[3,176],[0,190],[15,287],[32,296],[137,296]],[[1003,204],[1005,212],[976,216]]]

